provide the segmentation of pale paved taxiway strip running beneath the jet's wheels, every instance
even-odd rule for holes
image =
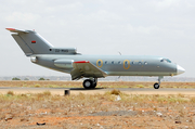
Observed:
[[[195,89],[173,89],[173,88],[116,88],[121,92],[128,94],[185,94],[185,95],[195,95]],[[105,93],[106,91],[112,91],[113,88],[102,89],[96,88],[93,90],[86,90],[83,88],[11,88],[11,87],[0,87],[0,93],[5,94],[8,91],[13,91],[16,94],[22,93],[40,93],[44,91],[50,91],[52,94],[64,95],[64,90],[70,90],[70,94],[94,94],[94,93]]]

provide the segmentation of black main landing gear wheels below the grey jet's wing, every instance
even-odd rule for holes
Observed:
[[[84,89],[94,89],[98,83],[98,78],[92,78],[92,79],[86,79],[82,83]]]

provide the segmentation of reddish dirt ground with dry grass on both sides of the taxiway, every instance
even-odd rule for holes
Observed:
[[[69,85],[70,83],[70,85]],[[101,87],[134,87],[153,82],[100,82]],[[0,87],[72,86],[65,81],[0,81]],[[78,86],[79,85],[79,86]],[[166,82],[164,82],[166,87]],[[194,87],[193,82],[172,82],[167,87]],[[164,87],[164,86],[162,86]],[[105,94],[0,95],[0,128],[35,129],[174,129],[195,128],[195,98],[177,95],[142,95],[107,92]]]

